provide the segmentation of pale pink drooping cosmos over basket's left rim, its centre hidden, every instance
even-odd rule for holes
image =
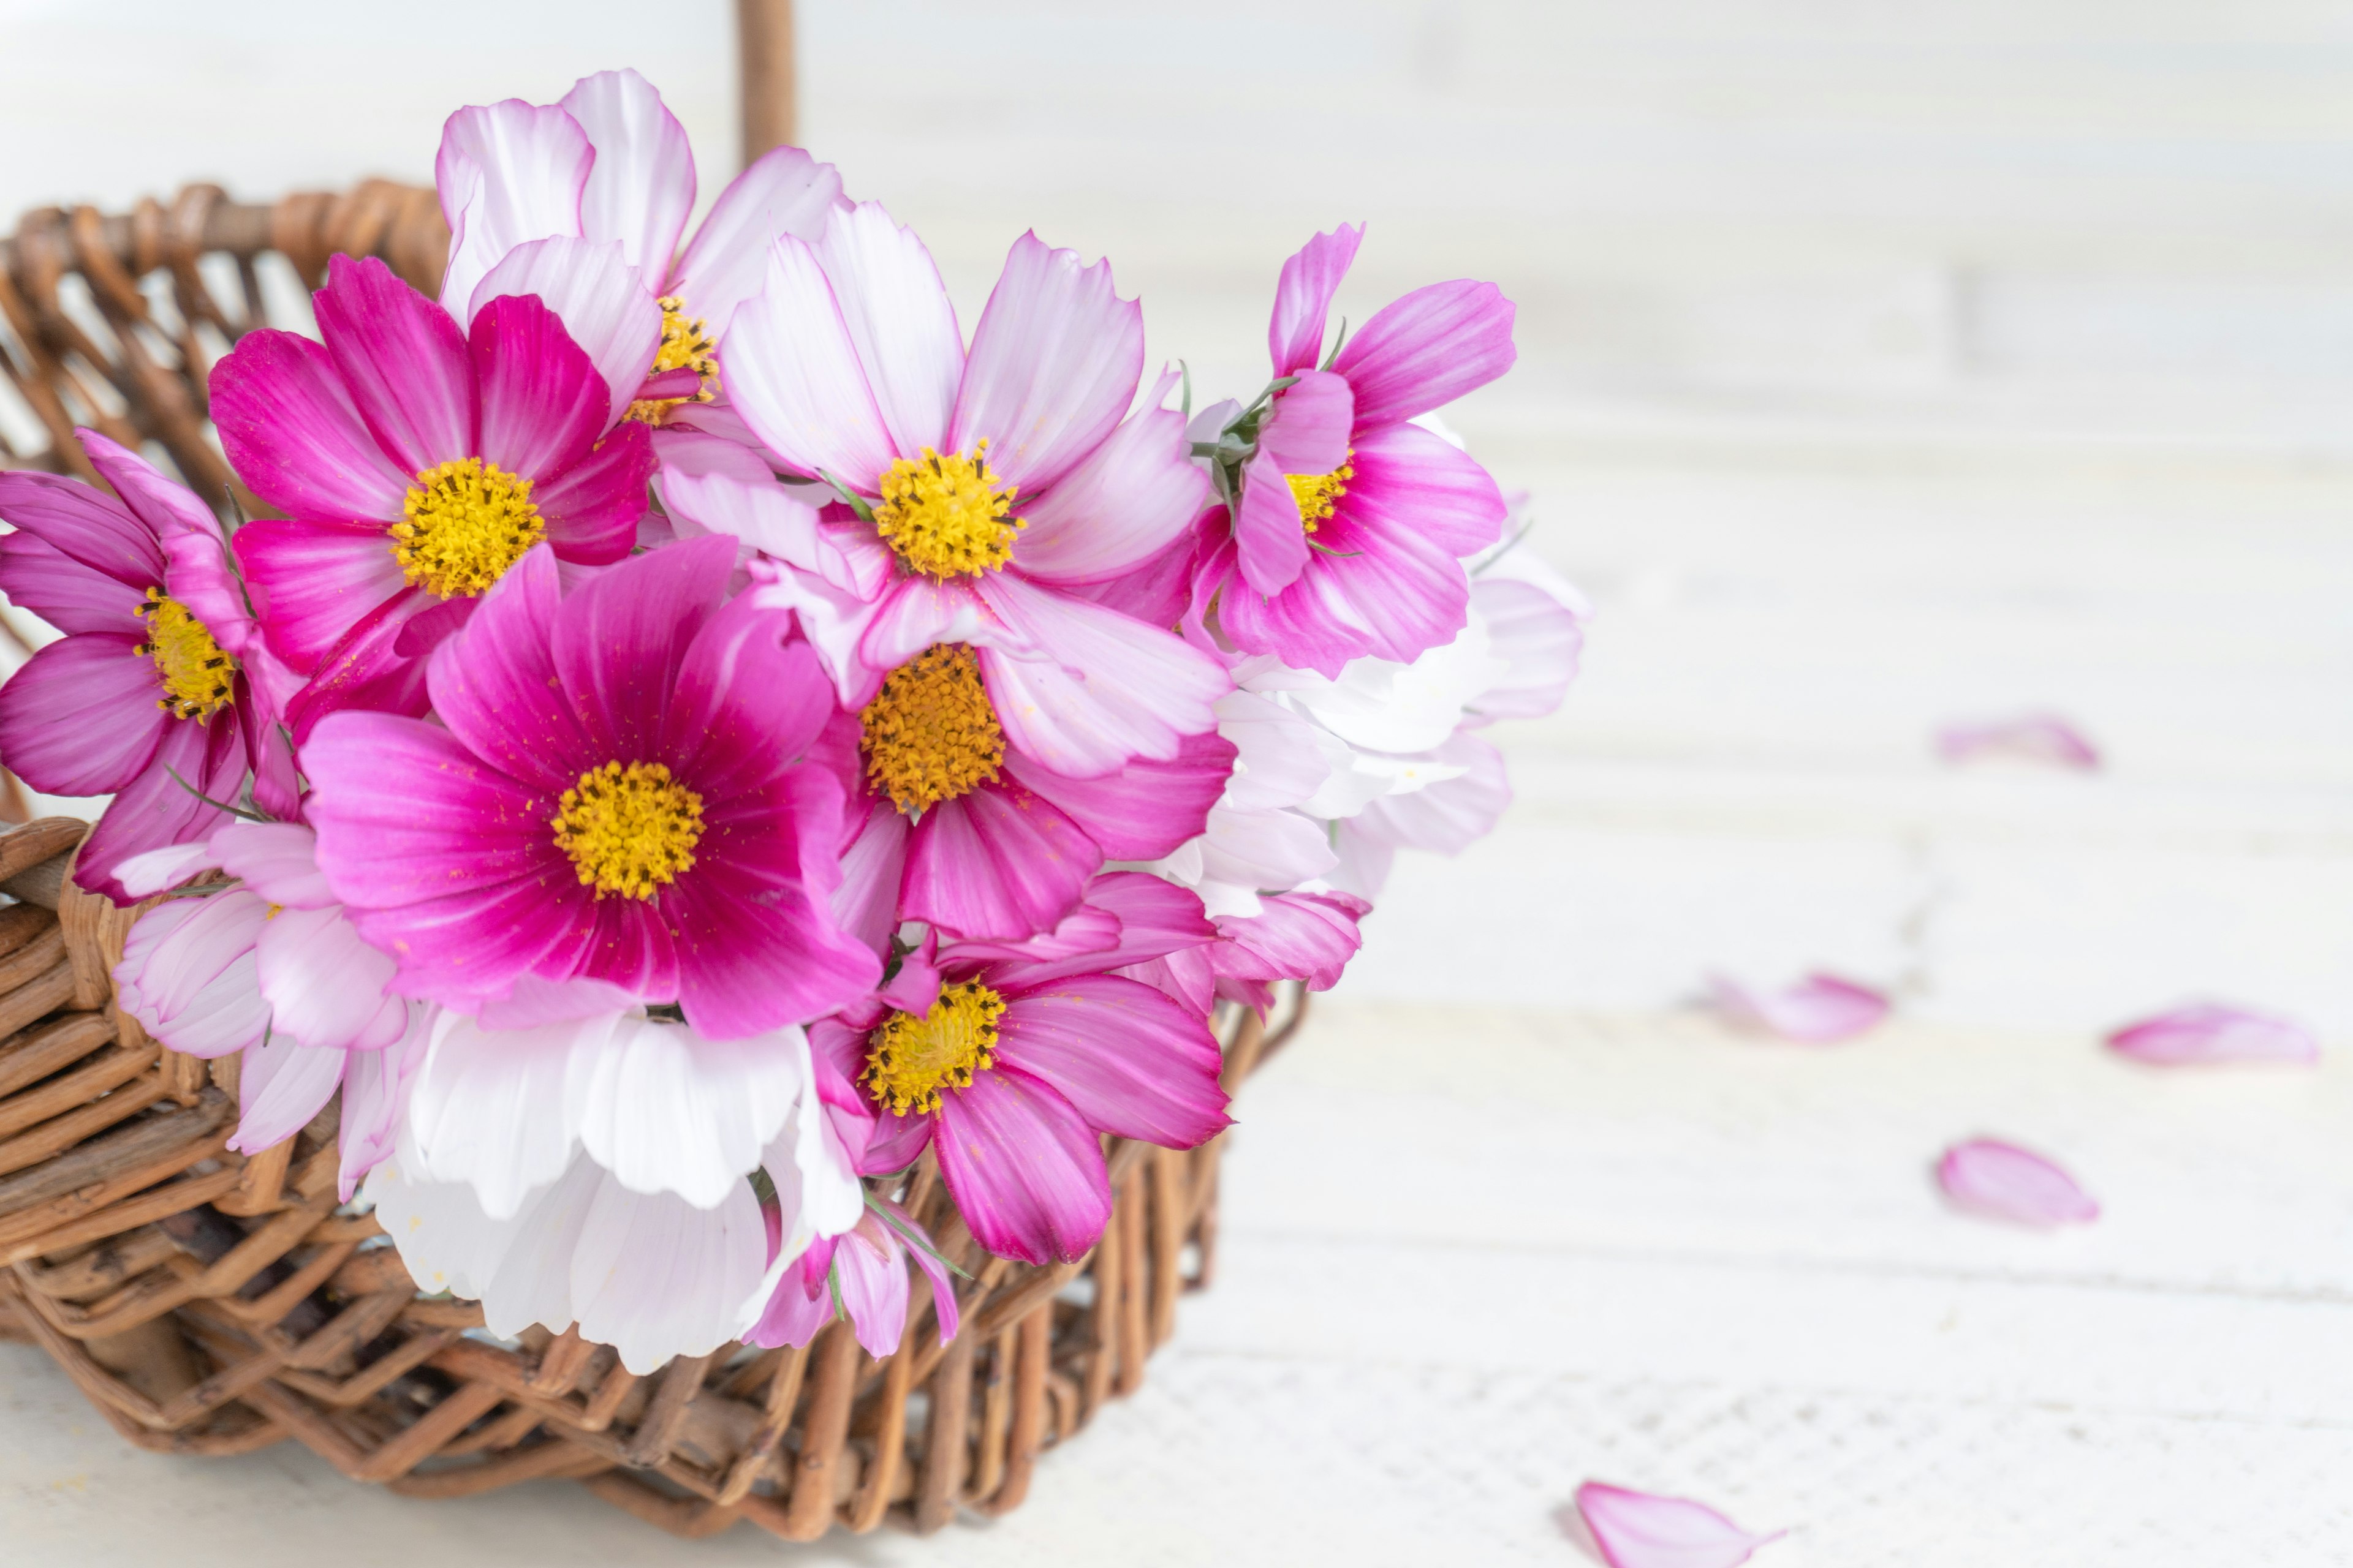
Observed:
[[[393,1150],[433,1009],[395,997],[393,961],[360,940],[318,872],[301,823],[235,820],[195,844],[122,863],[132,896],[205,870],[235,877],[169,898],[132,926],[115,964],[125,1013],[174,1051],[240,1053],[238,1131],[259,1154],[344,1093],[341,1194]]]

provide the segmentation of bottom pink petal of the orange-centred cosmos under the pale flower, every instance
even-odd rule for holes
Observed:
[[[1059,809],[1014,780],[988,783],[915,823],[899,914],[958,936],[1028,936],[1068,914],[1101,863]]]

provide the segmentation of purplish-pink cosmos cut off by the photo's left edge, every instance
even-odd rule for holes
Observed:
[[[0,757],[49,795],[113,795],[75,882],[132,903],[129,856],[202,837],[261,759],[256,795],[292,806],[278,703],[292,677],[228,569],[221,524],[96,430],[82,449],[115,496],[38,473],[0,475],[0,590],[59,642],[0,686]],[[174,778],[176,773],[176,778]]]

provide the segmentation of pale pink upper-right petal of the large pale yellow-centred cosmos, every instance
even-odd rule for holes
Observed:
[[[1144,313],[1111,284],[1111,263],[1021,235],[972,329],[948,442],[988,442],[1007,484],[1042,491],[1094,451],[1136,395]]]

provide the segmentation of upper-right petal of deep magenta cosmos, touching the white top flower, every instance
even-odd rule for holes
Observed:
[[[473,451],[485,463],[539,480],[588,456],[612,414],[612,390],[546,303],[501,294],[473,317],[466,348],[482,388]]]

